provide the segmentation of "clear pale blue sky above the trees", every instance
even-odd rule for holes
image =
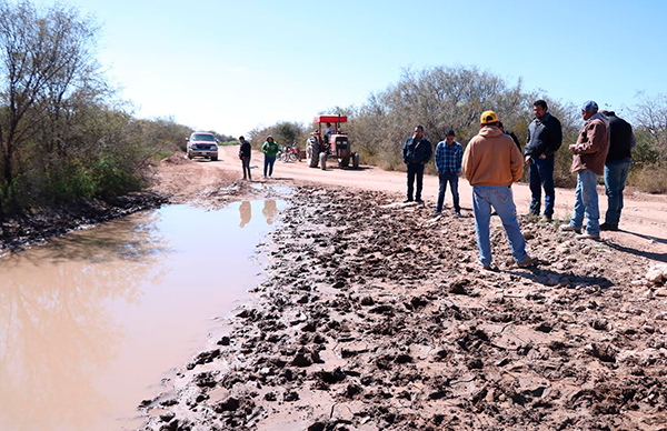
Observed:
[[[667,92],[660,0],[66,3],[102,24],[98,58],[139,117],[228,134],[360,104],[404,68],[477,66],[621,113]]]

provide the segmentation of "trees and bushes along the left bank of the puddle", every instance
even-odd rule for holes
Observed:
[[[192,131],[133,117],[96,61],[98,31],[74,8],[0,1],[0,217],[139,190]]]

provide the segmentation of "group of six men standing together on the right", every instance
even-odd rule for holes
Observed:
[[[526,242],[517,221],[511,184],[529,166],[531,191],[530,213],[539,216],[541,190],[545,190],[542,221],[550,222],[554,216],[556,191],[554,187],[555,154],[563,143],[560,121],[548,112],[547,102],[537,100],[532,106],[534,120],[528,127],[526,150],[521,154],[518,139],[502,128],[494,111],[480,117],[480,130],[465,151],[449,130],[445,141],[436,147],[436,169],[439,179],[438,202],[435,214],[440,214],[445,192],[449,184],[457,217],[461,217],[458,178],[462,171],[472,186],[472,207],[479,258],[485,269],[492,268],[489,223],[492,214],[500,217],[508,242],[517,264],[529,267],[534,260],[526,252]],[[577,173],[574,214],[564,231],[574,231],[578,239],[599,239],[600,230],[618,230],[623,209],[623,191],[629,172],[631,149],[636,146],[631,126],[616,117],[613,111],[598,111],[594,101],[581,107],[584,124],[577,142],[568,147],[573,153],[570,171]],[[432,147],[424,136],[424,127],[417,126],[412,137],[402,147],[402,160],[408,173],[406,202],[424,203],[421,191],[424,168],[432,157]],[[599,224],[597,199],[598,177],[604,176],[608,197],[606,220]],[[417,188],[415,189],[415,182]],[[414,199],[415,197],[415,199]],[[495,210],[495,212],[491,212]],[[584,219],[587,219],[583,232]]]

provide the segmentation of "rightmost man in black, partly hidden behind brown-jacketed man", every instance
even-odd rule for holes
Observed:
[[[637,146],[630,123],[616,117],[614,111],[601,111],[609,119],[609,153],[605,162],[605,191],[607,192],[607,213],[600,230],[618,230],[620,210],[623,210],[623,190],[625,189],[633,149]]]

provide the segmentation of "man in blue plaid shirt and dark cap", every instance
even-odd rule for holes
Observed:
[[[461,217],[461,207],[459,206],[458,196],[458,174],[461,171],[464,147],[455,141],[454,138],[454,130],[449,130],[446,139],[436,147],[436,169],[438,170],[438,179],[440,180],[440,191],[438,192],[438,206],[436,207],[434,214],[440,214],[442,212],[445,192],[447,191],[447,182],[449,182],[451,198],[454,199],[455,214]]]

